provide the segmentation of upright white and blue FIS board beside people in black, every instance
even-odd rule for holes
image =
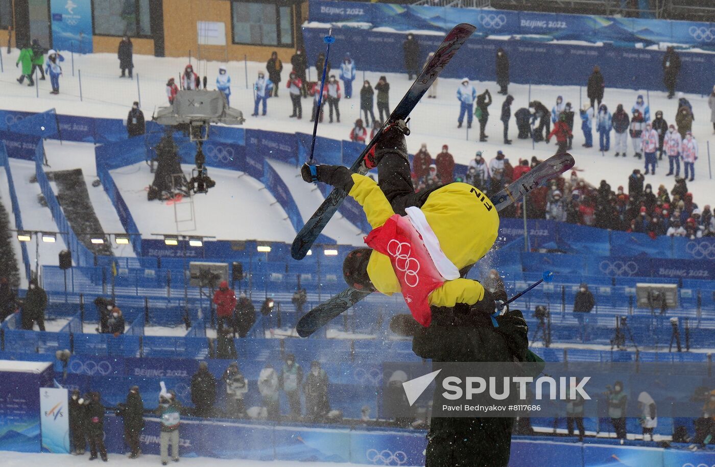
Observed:
[[[40,388],[42,451],[69,453],[69,408],[67,390]]]

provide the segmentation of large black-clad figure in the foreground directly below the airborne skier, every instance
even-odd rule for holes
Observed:
[[[419,326],[410,315],[396,316],[390,328],[412,335],[413,352],[431,358],[433,370],[440,366],[439,362],[526,361],[528,326],[521,311],[498,316],[499,326],[494,327],[489,318],[495,308],[494,300],[490,296],[485,298],[471,307],[464,303],[453,308],[432,307],[432,323],[427,328]],[[403,317],[408,325],[399,326],[398,317]],[[435,398],[441,398],[442,380],[447,376],[445,372],[438,374]],[[507,466],[513,424],[511,417],[433,417],[425,466]]]

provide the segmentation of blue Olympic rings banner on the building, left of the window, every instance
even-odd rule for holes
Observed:
[[[92,53],[92,0],[51,0],[52,46]]]

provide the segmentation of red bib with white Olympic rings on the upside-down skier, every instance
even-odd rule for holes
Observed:
[[[383,226],[371,231],[365,243],[390,258],[412,316],[422,326],[429,326],[432,311],[428,297],[445,281],[410,220],[395,214]]]

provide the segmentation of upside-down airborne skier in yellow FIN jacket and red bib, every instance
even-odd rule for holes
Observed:
[[[301,169],[307,182],[347,191],[373,227],[365,238],[370,248],[345,258],[348,285],[402,293],[422,326],[430,324],[430,306],[483,302],[493,312],[490,293],[478,281],[460,277],[460,269],[482,258],[497,237],[499,216],[485,194],[464,183],[415,193],[405,136],[396,126],[385,131],[374,155],[368,154],[368,166],[377,166],[380,184],[344,166]]]

